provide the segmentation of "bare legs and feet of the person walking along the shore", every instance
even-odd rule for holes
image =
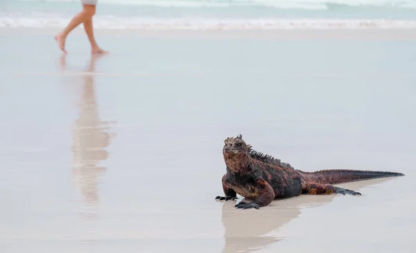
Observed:
[[[92,17],[94,16],[95,11],[96,6],[83,4],[83,10],[75,15],[71,21],[69,21],[69,24],[64,28],[64,30],[62,30],[61,33],[55,35],[55,40],[58,42],[58,46],[62,51],[67,53],[65,50],[65,40],[67,39],[68,34],[71,32],[71,30],[76,28],[76,26],[79,26],[81,23],[83,23],[85,32],[87,33],[89,42],[91,43],[92,53],[106,53],[97,45],[92,33]]]

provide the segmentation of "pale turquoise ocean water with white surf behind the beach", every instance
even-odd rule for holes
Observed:
[[[80,0],[0,0],[0,27],[62,27]],[[98,0],[100,28],[415,28],[414,0]]]

